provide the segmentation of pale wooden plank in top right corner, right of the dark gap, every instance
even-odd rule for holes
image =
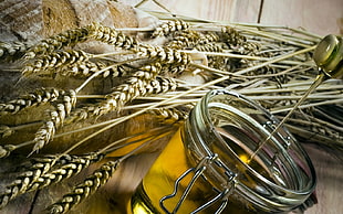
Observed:
[[[320,35],[343,32],[342,0],[264,0],[261,23],[304,28]]]

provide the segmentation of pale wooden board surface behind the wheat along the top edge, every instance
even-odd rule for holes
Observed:
[[[261,0],[157,0],[172,12],[193,18],[257,23]],[[141,0],[126,0],[131,6]],[[163,11],[153,0],[142,9]],[[343,33],[342,0],[264,0],[261,23],[303,28],[320,35]]]

